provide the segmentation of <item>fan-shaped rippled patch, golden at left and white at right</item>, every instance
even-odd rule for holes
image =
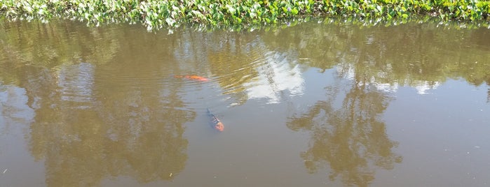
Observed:
[[[297,61],[280,52],[264,52],[251,63],[217,77],[223,93],[244,102],[249,99],[263,99],[266,104],[280,103],[281,99],[301,95],[304,92],[304,78]]]

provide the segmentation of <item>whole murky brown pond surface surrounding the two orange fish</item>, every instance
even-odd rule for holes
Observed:
[[[0,186],[489,186],[490,29],[440,26],[1,22]]]

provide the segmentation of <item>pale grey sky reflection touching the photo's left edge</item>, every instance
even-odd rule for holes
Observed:
[[[27,105],[26,91],[23,88],[0,85],[0,124],[11,121],[29,123],[34,119],[34,110]]]

